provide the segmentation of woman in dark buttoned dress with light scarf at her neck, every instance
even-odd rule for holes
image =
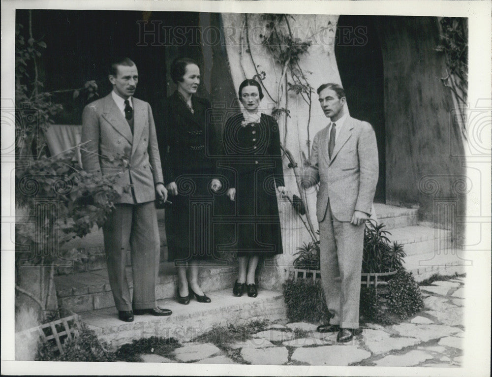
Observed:
[[[235,296],[245,288],[256,297],[255,271],[260,256],[282,253],[277,192],[285,193],[277,122],[258,111],[263,98],[255,80],[245,80],[239,87],[243,113],[230,117],[223,130],[224,153],[233,157],[227,196],[235,201],[238,229],[236,250],[239,276]]]

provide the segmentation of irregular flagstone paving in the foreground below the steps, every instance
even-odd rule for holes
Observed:
[[[221,346],[184,343],[166,357],[142,355],[154,363],[459,367],[463,341],[463,278],[421,286],[425,308],[398,324],[367,323],[352,342],[321,334],[317,324],[273,324],[245,342]]]

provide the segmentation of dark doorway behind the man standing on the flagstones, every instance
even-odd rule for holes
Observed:
[[[379,180],[374,200],[385,202],[386,161],[384,80],[381,46],[370,16],[338,18],[335,44],[338,72],[350,116],[369,122],[376,133]]]

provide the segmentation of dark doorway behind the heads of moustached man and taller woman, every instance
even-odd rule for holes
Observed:
[[[45,91],[58,92],[53,101],[63,105],[56,119],[60,124],[80,125],[86,105],[74,100],[69,89],[95,80],[100,97],[110,93],[107,64],[111,57],[127,56],[136,63],[135,96],[151,104],[156,124],[162,99],[174,90],[169,85],[170,62],[178,55],[203,61],[198,12],[32,10],[31,15],[34,39],[42,39],[47,46],[36,62],[39,80]],[[17,10],[16,22],[24,26],[27,40],[29,10]],[[171,39],[171,30],[179,32],[181,39]]]

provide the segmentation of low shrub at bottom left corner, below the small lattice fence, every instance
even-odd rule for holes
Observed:
[[[115,354],[106,342],[100,341],[87,325],[81,325],[78,336],[67,339],[63,352],[50,342],[38,346],[37,361],[114,361]]]

